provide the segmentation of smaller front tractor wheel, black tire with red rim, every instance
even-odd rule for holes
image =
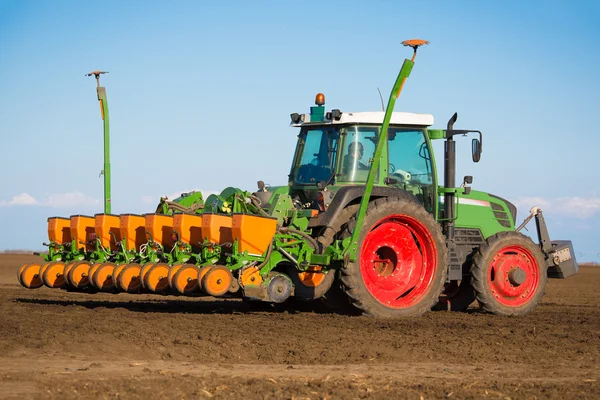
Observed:
[[[530,313],[544,295],[547,281],[542,251],[519,232],[490,236],[473,258],[471,282],[475,296],[479,306],[489,313]]]

